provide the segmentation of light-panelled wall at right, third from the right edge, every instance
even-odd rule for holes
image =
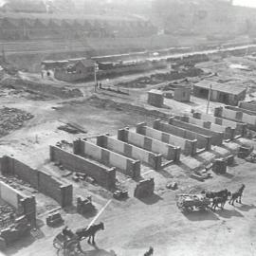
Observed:
[[[220,113],[216,113],[220,115]],[[211,116],[209,114],[195,112],[192,114],[192,117],[195,119],[203,119],[206,121],[210,121],[212,124],[222,125],[229,128],[230,137],[234,137],[235,135],[244,136],[247,131],[247,124],[235,122],[229,119],[222,119],[221,116]],[[234,131],[233,131],[234,130]],[[234,136],[232,135],[234,133]]]

